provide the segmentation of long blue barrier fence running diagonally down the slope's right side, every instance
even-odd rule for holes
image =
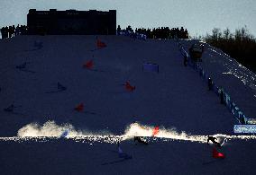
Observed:
[[[203,78],[203,81],[205,83],[208,83],[209,78],[212,80],[212,90],[218,97],[220,97],[221,92],[224,92],[224,104],[227,109],[229,109],[229,111],[233,114],[233,117],[239,122],[239,124],[248,124],[248,118],[244,115],[242,110],[239,109],[237,105],[231,100],[231,96],[224,91],[224,88],[218,87],[213,81],[212,77],[210,77],[209,74],[207,74],[201,66],[191,60],[189,54],[187,54],[187,51],[183,48],[180,42],[178,42],[178,47],[181,55],[183,57],[187,57],[187,65],[191,66],[195,71],[197,71],[197,73]]]

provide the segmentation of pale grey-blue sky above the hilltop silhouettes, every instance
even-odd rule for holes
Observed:
[[[0,26],[26,24],[30,8],[37,10],[117,10],[117,24],[135,27],[184,26],[192,36],[213,28],[247,26],[256,36],[256,0],[0,0]]]

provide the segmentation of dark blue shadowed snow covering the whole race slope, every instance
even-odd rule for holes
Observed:
[[[126,139],[121,143],[123,152],[133,159],[120,160],[116,142],[64,138],[14,141],[0,137],[3,174],[253,174],[255,140],[230,139],[222,148],[226,159],[212,158],[206,136],[232,136],[235,120],[215,93],[207,91],[197,72],[183,66],[175,40],[99,39],[106,48],[96,49],[96,36],[0,40],[0,136],[17,136],[27,124],[41,126],[52,120],[75,127],[82,136],[118,137],[130,124],[139,122],[184,131],[187,136],[203,136],[204,142],[160,138],[141,145]],[[188,48],[195,41],[181,42]],[[42,43],[42,47],[35,47],[35,43]],[[83,68],[90,59],[93,70]],[[24,62],[26,71],[15,68]],[[143,72],[143,63],[158,64],[160,72]],[[255,118],[255,74],[210,46],[201,65],[246,116]],[[134,92],[125,91],[126,81],[136,87]],[[55,92],[58,82],[67,91]],[[85,110],[75,111],[81,102]],[[13,103],[17,107],[14,112],[3,110]],[[79,136],[79,132],[74,135]]]

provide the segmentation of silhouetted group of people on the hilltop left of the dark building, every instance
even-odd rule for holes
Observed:
[[[24,35],[27,32],[27,26],[25,25],[17,25],[17,27],[6,26],[1,29],[2,39],[12,38],[16,35]]]

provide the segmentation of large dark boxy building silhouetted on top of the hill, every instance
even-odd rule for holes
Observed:
[[[115,35],[116,10],[37,11],[27,14],[30,35]]]

